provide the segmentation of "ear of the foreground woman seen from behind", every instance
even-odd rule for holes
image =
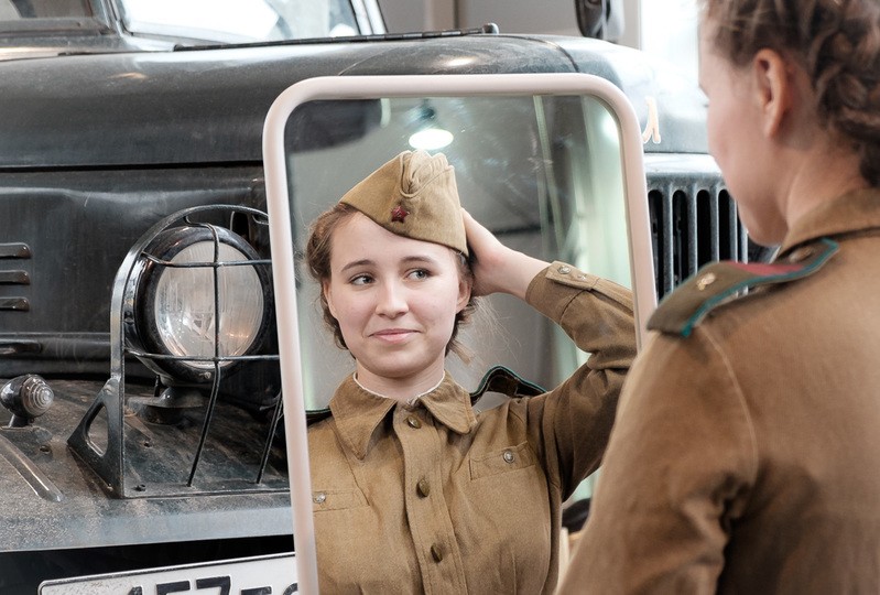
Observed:
[[[761,130],[768,138],[776,137],[793,106],[795,82],[789,61],[774,50],[759,50],[752,60],[752,76]]]

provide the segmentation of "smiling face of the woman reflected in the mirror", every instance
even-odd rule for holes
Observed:
[[[455,316],[470,299],[456,259],[445,246],[398,236],[360,213],[333,231],[323,289],[360,380],[436,381]]]

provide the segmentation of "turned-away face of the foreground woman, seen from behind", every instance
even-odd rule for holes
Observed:
[[[708,98],[709,153],[721,169],[742,223],[759,244],[778,244],[785,223],[776,198],[779,172],[762,130],[759,89],[751,66],[737,68],[714,47],[714,25],[704,20],[699,40],[699,86]]]

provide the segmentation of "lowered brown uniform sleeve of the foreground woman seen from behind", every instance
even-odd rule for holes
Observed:
[[[757,468],[749,410],[717,342],[704,328],[653,335],[561,593],[715,593]]]

